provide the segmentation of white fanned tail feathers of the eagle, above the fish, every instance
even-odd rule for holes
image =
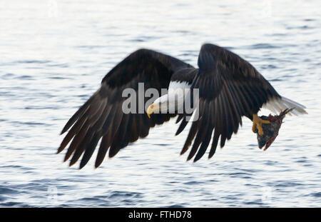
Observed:
[[[299,114],[306,114],[307,111],[305,111],[306,107],[298,104],[295,101],[292,101],[290,99],[287,99],[285,97],[281,98],[273,98],[267,101],[266,104],[263,105],[263,108],[268,109],[272,111],[273,113],[280,113],[281,111],[284,111],[285,109],[295,108],[292,111],[289,112],[289,114],[293,114],[295,116]]]

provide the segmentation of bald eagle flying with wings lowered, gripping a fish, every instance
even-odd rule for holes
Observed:
[[[305,106],[287,99],[275,91],[271,84],[248,62],[227,49],[213,44],[203,44],[198,56],[198,69],[172,56],[149,49],[139,49],[123,59],[101,81],[101,87],[71,116],[61,134],[60,153],[71,141],[64,161],[71,158],[70,166],[81,158],[80,168],[88,163],[98,141],[101,140],[95,166],[101,165],[107,151],[113,157],[121,150],[148,136],[150,128],[178,116],[178,135],[188,124],[187,113],[166,113],[163,104],[183,104],[185,97],[168,91],[151,104],[143,113],[123,113],[124,89],[138,91],[143,83],[147,91],[157,89],[198,89],[199,118],[193,121],[180,154],[193,143],[188,160],[200,159],[212,140],[208,157],[242,126],[242,117],[253,121],[253,132],[263,135],[262,124],[269,123],[258,117],[265,106],[272,112],[295,108],[290,113],[306,113]],[[141,98],[146,102],[146,98]],[[175,101],[180,100],[180,101]],[[177,108],[177,107],[176,107]],[[196,154],[196,155],[195,155]]]

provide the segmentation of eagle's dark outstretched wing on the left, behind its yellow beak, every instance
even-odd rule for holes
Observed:
[[[156,51],[140,49],[133,52],[103,78],[101,88],[63,127],[61,134],[70,130],[63,138],[58,153],[72,140],[64,161],[72,156],[71,166],[83,154],[80,164],[82,168],[102,138],[95,163],[98,167],[108,148],[109,156],[112,157],[128,143],[147,136],[151,127],[168,121],[175,114],[158,113],[148,118],[145,109],[144,113],[123,113],[122,104],[126,100],[122,97],[123,90],[134,89],[138,95],[138,83],[143,83],[145,91],[153,88],[161,95],[161,89],[168,89],[173,72],[185,67],[191,66]],[[145,104],[145,98],[140,99]]]

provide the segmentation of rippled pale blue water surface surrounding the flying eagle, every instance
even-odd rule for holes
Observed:
[[[0,206],[321,206],[320,1],[1,1]],[[64,123],[127,54],[196,65],[201,44],[248,59],[309,115],[267,151],[251,123],[207,160],[179,156],[172,121],[81,171],[56,155]]]

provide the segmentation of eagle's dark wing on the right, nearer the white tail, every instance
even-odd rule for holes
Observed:
[[[226,139],[238,132],[242,116],[252,119],[253,113],[258,113],[267,101],[281,98],[248,61],[219,46],[204,44],[198,66],[191,91],[199,89],[199,118],[192,123],[181,152],[187,151],[195,138],[188,156],[189,160],[197,153],[194,161],[204,155],[213,131],[209,158],[215,153],[219,137],[223,147]],[[180,131],[184,125],[186,122],[182,121]]]

